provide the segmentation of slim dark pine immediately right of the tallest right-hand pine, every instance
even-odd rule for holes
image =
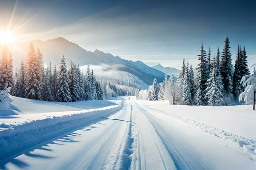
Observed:
[[[237,58],[235,60],[235,69],[233,74],[233,94],[235,97],[238,97],[242,93],[242,85],[240,84],[241,76],[241,67],[242,67],[242,51],[241,46],[238,45]]]

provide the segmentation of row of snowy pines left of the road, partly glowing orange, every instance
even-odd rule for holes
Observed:
[[[11,87],[11,94],[29,99],[75,102],[81,100],[103,100],[107,96],[107,87],[96,80],[93,70],[87,67],[84,74],[72,60],[67,70],[64,55],[59,70],[56,64],[52,70],[44,67],[42,53],[36,52],[31,43],[27,54],[27,63],[21,60],[19,70],[13,75],[12,56],[5,47],[2,51],[0,69],[0,87]]]

